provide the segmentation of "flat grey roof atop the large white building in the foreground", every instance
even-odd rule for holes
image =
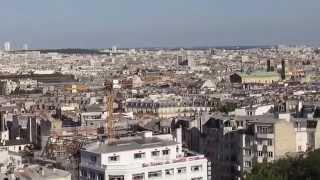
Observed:
[[[113,144],[95,142],[88,144],[84,151],[92,153],[115,153],[121,151],[141,150],[176,145],[177,142],[162,140],[156,137],[120,140]]]

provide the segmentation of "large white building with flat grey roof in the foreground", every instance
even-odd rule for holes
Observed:
[[[177,137],[145,132],[112,144],[90,144],[81,150],[80,179],[207,180],[207,159],[183,151],[181,136]]]

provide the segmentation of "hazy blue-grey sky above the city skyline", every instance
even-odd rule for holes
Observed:
[[[16,48],[320,44],[319,0],[6,0]]]

